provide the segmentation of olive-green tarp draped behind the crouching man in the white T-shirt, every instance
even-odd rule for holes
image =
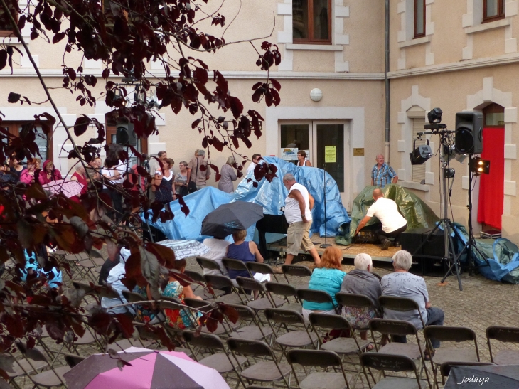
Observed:
[[[351,222],[350,230],[343,231],[342,236],[335,238],[338,245],[351,245],[353,235],[357,229],[358,223],[362,220],[373,204],[373,190],[376,186],[366,186],[362,192],[353,201],[353,209],[351,211]],[[390,184],[386,185],[382,189],[385,198],[390,198],[397,203],[400,213],[407,220],[407,230],[414,228],[428,228],[434,227],[439,218],[434,214],[431,208],[427,206],[418,196],[414,193],[407,191],[400,185]],[[371,218],[367,225],[380,223],[377,218]]]

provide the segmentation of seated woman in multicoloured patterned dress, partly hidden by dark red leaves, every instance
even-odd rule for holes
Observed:
[[[186,260],[176,260],[175,261],[175,270],[183,273],[186,270]],[[190,285],[183,287],[180,282],[173,276],[169,276],[168,284],[164,287],[163,291],[160,291],[161,294],[165,297],[175,297],[176,299],[184,302],[184,299],[199,299],[202,298],[199,296],[195,296],[193,294],[193,289],[191,289]],[[166,321],[169,326],[173,327],[173,329],[186,329],[188,327],[192,327],[195,324],[200,324],[200,316],[202,314],[198,313],[195,315],[188,314],[188,309],[164,309],[164,315],[166,315]],[[196,321],[196,323],[195,323]]]

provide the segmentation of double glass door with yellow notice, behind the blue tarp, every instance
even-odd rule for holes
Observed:
[[[335,146],[335,162],[326,163],[326,171],[336,181],[344,206],[349,203],[345,190],[348,182],[346,164],[348,159],[348,126],[346,122],[331,121],[301,121],[282,122],[279,124],[280,156],[285,148],[306,151],[306,159],[312,166],[323,169],[325,167],[325,154],[333,150],[329,146]],[[328,147],[327,147],[328,146]],[[296,156],[291,161],[297,163]]]

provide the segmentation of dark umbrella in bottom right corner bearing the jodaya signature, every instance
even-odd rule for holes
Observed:
[[[453,366],[445,389],[517,389],[519,366]]]

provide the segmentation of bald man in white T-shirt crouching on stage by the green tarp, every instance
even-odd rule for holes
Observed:
[[[382,250],[387,250],[390,247],[391,241],[388,238],[395,238],[395,247],[400,247],[400,234],[406,230],[407,221],[398,212],[397,203],[390,198],[385,198],[380,188],[373,191],[373,198],[375,203],[370,206],[363,220],[358,223],[355,235],[375,216],[382,223],[382,230],[377,231]]]

